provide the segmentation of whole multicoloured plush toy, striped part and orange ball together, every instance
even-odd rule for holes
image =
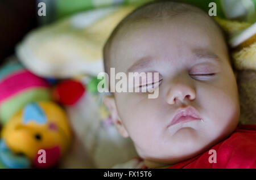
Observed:
[[[67,115],[49,83],[17,61],[0,70],[0,168],[51,168],[71,142]]]

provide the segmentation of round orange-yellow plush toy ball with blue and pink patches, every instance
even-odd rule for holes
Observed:
[[[27,104],[3,127],[1,135],[14,155],[28,158],[38,168],[56,165],[71,142],[67,115],[51,101]],[[1,160],[16,167],[15,161]]]

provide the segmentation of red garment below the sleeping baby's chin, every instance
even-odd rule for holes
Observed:
[[[216,150],[216,163],[210,163],[209,150]],[[144,166],[143,168],[146,168]],[[189,160],[167,169],[232,169],[256,168],[256,125],[240,125],[225,140]]]

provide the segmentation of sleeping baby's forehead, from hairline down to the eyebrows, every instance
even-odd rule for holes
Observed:
[[[187,17],[134,24],[133,28],[123,29],[112,45],[112,67],[123,66],[123,70],[133,61],[150,55],[159,57],[158,54],[168,54],[170,58],[177,59],[175,55],[214,54],[211,52],[216,48],[214,44],[224,42],[220,31],[210,20],[206,22],[203,19],[204,23],[201,23],[202,19],[195,16],[185,23],[184,19]],[[192,19],[197,20],[193,22]]]

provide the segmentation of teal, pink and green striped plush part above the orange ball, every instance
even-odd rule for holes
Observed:
[[[32,74],[15,58],[0,69],[0,119],[5,125],[24,105],[48,101],[51,93],[43,78]]]

